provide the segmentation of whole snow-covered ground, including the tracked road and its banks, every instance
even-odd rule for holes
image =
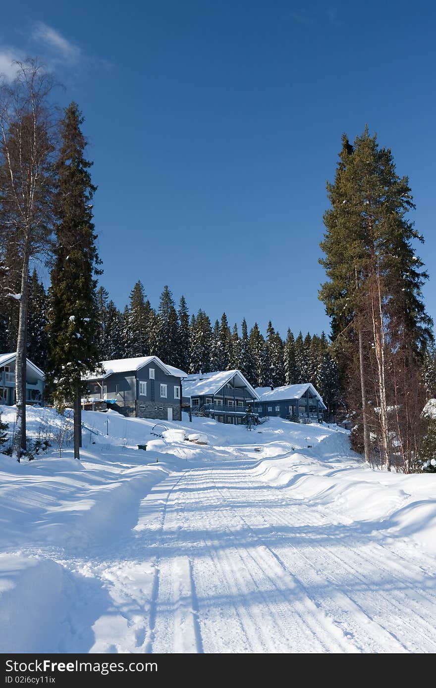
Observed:
[[[436,651],[436,474],[280,419],[83,421],[80,463],[0,455],[0,652]]]

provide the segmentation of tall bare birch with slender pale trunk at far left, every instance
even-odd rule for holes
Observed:
[[[52,241],[56,120],[54,82],[35,60],[17,63],[17,76],[0,83],[1,243],[14,244],[21,273],[16,359],[17,421],[14,456],[26,449],[25,376],[30,261]]]

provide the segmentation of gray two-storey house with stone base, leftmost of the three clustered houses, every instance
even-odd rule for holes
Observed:
[[[104,373],[88,376],[83,409],[111,408],[124,416],[181,420],[183,370],[157,356],[101,361]]]

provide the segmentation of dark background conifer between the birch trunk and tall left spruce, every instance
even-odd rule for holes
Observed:
[[[29,279],[28,358],[45,370],[48,363],[47,294],[37,270]]]

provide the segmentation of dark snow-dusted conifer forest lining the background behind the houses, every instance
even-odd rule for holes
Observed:
[[[0,272],[1,275],[1,272]],[[45,292],[34,270],[29,278],[28,357],[47,370],[50,294]],[[251,330],[242,320],[229,326],[222,314],[214,325],[204,310],[189,315],[185,297],[176,305],[165,286],[154,308],[138,281],[129,304],[120,311],[101,286],[96,290],[95,340],[102,361],[114,358],[156,355],[188,373],[200,370],[239,369],[253,387],[280,387],[311,382],[320,391],[329,412],[338,402],[338,365],[324,332],[294,336],[288,330],[282,339],[269,322],[262,334],[255,323]],[[0,318],[0,350],[14,351],[17,345],[18,303],[6,301]]]

